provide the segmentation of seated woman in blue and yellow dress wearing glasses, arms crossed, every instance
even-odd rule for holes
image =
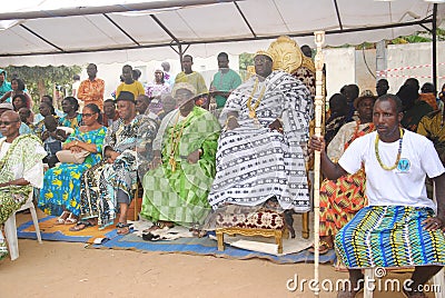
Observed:
[[[38,207],[48,215],[59,216],[57,224],[76,224],[80,213],[80,180],[82,173],[101,159],[107,129],[100,123],[100,110],[95,103],[83,108],[83,126],[65,141],[62,149],[91,152],[83,163],[61,163],[44,173]]]

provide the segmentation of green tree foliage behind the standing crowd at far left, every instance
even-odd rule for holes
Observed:
[[[18,77],[27,86],[28,92],[34,103],[44,95],[53,95],[55,87],[62,91],[71,89],[72,76],[80,73],[80,66],[72,67],[7,67],[9,78]],[[38,107],[38,105],[34,105]]]

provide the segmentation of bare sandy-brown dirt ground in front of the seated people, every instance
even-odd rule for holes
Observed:
[[[18,225],[30,215],[18,215]],[[295,276],[314,278],[314,265],[276,265],[268,260],[230,260],[210,256],[86,249],[83,244],[19,240],[20,257],[0,261],[0,297],[314,297],[290,291]],[[319,266],[320,280],[347,278],[332,265]],[[403,280],[408,275],[390,274]],[[294,286],[295,284],[289,284]],[[336,297],[322,291],[319,297]],[[358,294],[357,297],[363,297]],[[399,292],[377,292],[398,298]],[[428,296],[434,297],[434,295]]]

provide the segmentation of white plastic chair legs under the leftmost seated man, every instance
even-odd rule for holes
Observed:
[[[36,207],[32,199],[33,199],[33,191],[29,193],[27,202],[23,203],[23,206],[20,207],[20,209],[17,210],[16,212],[26,209],[29,209],[31,211],[32,222],[34,224],[37,234],[37,240],[39,241],[39,244],[41,244],[42,240],[40,236],[39,219],[37,218]],[[9,255],[11,257],[11,260],[14,260],[19,257],[19,240],[17,237],[16,212],[13,212],[4,222],[4,235],[8,240]]]

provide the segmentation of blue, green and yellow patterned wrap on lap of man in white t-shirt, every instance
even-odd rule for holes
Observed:
[[[365,207],[335,237],[335,248],[348,268],[445,265],[442,230],[421,224],[429,208]]]

